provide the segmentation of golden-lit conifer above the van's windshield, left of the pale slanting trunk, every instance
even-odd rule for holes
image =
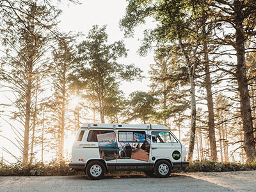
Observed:
[[[188,85],[188,74],[176,52],[165,49],[166,47],[156,50],[156,63],[150,65],[150,94],[159,100],[154,121],[170,126],[170,118],[182,113],[189,106],[184,88]]]

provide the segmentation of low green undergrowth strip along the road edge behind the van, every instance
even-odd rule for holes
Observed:
[[[256,160],[250,164],[241,163],[218,163],[210,160],[193,161],[185,170],[173,170],[173,172],[235,172],[256,170]],[[129,175],[130,172],[115,172],[108,175]],[[143,173],[143,172],[136,172]],[[23,166],[21,162],[4,164],[0,162],[0,176],[67,176],[82,175],[68,168],[68,161],[52,160],[49,163],[34,163]]]

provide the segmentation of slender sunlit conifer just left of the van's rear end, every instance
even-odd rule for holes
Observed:
[[[53,97],[51,99],[52,113],[55,113],[55,119],[58,122],[58,149],[59,156],[63,157],[65,131],[67,131],[67,112],[69,83],[68,75],[70,74],[73,56],[73,39],[64,35],[58,40],[58,46],[52,51],[53,63],[51,76],[53,81]]]

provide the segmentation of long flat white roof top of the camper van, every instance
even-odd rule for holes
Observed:
[[[97,123],[85,123],[81,128],[110,128],[110,129],[154,129],[154,130],[169,130],[164,125],[138,125],[138,124],[97,124]]]

